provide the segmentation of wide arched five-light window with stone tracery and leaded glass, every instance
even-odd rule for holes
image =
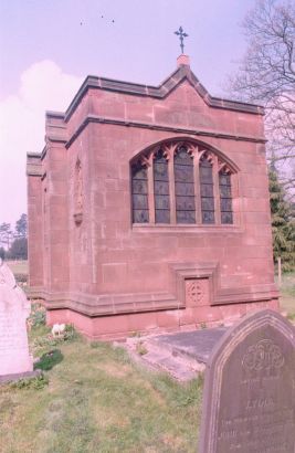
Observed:
[[[233,224],[235,173],[220,152],[191,141],[144,151],[131,162],[133,222]]]

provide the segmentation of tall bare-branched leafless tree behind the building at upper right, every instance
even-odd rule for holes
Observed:
[[[295,6],[261,0],[243,22],[247,51],[230,77],[231,95],[265,107],[267,155],[283,171],[286,189],[295,187]],[[292,172],[293,169],[293,172]]]

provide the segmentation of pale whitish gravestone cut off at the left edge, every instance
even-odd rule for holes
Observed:
[[[30,304],[0,259],[0,381],[33,376],[25,320]]]

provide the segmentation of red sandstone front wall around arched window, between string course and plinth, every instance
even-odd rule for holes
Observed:
[[[99,244],[95,263],[99,293],[116,288],[118,292],[165,291],[167,263],[178,261],[220,262],[224,287],[273,282],[266,170],[257,145],[245,147],[228,140],[207,140],[242,169],[241,223],[236,228],[131,228],[129,160],[138,149],[171,138],[171,134],[110,125],[91,125],[89,129],[95,161],[92,190],[97,200],[94,231]],[[249,165],[243,161],[245,152]],[[256,189],[260,200],[255,197]]]

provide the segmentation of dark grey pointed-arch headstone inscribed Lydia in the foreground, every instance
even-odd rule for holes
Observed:
[[[262,310],[233,326],[206,372],[199,453],[295,452],[295,328]]]

